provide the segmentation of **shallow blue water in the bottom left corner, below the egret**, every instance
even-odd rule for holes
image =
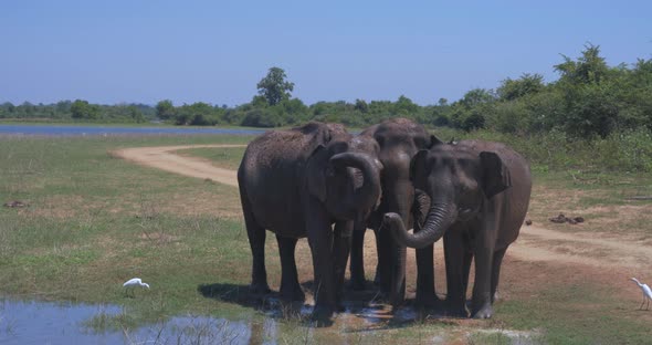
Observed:
[[[135,330],[102,327],[114,305],[0,301],[0,344],[275,344],[276,323],[176,316]]]

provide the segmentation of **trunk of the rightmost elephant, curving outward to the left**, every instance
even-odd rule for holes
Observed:
[[[390,229],[395,240],[410,248],[421,249],[439,241],[446,229],[455,221],[458,210],[450,203],[433,202],[421,231],[408,232],[401,217],[398,213],[386,213],[382,220],[383,227]]]

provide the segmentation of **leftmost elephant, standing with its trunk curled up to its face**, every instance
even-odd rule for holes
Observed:
[[[380,200],[378,145],[343,125],[312,122],[267,132],[251,142],[238,169],[240,198],[253,257],[250,291],[270,292],[265,229],[276,234],[283,301],[304,301],[294,251],[307,237],[315,274],[317,318],[328,318],[341,299],[354,221]],[[332,229],[335,223],[335,229]]]

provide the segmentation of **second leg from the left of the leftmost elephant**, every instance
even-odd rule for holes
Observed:
[[[304,301],[305,294],[298,284],[294,250],[297,239],[276,234],[281,255],[281,299],[284,301]]]

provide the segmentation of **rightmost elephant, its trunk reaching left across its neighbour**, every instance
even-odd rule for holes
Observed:
[[[467,316],[466,288],[475,258],[471,315],[491,317],[503,257],[518,237],[529,203],[528,163],[506,145],[462,140],[420,150],[410,176],[431,199],[423,229],[408,232],[396,213],[385,215],[383,224],[397,242],[410,248],[424,248],[443,237],[450,315]]]

